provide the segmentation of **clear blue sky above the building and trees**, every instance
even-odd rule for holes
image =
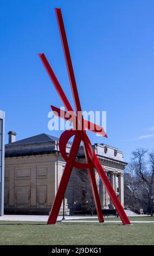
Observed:
[[[107,111],[108,138],[124,151],[154,147],[153,0],[0,1],[0,109],[17,139],[48,130],[62,106],[38,53],[44,52],[73,105],[54,8],[61,8],[82,110]],[[6,143],[8,135],[6,135]]]

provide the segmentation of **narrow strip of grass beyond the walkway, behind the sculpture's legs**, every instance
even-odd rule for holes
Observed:
[[[98,218],[78,218],[78,219],[74,219],[73,221],[98,221]],[[116,218],[116,217],[105,217],[104,218],[105,221],[120,221],[120,218]],[[129,217],[130,221],[153,221],[154,222],[154,216],[150,217],[150,216],[143,216],[143,217]],[[69,222],[69,220],[66,220]]]

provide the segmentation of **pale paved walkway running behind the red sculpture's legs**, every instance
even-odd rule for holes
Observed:
[[[135,215],[136,217],[143,217],[147,215]],[[132,216],[131,216],[132,217]],[[90,221],[84,221],[84,219],[90,218]],[[97,216],[65,216],[66,221],[69,222],[98,222],[93,221],[93,218],[97,218]],[[110,218],[110,217],[109,217]],[[77,219],[77,220],[75,220]],[[79,220],[81,219],[81,220]],[[106,219],[106,217],[105,217]],[[4,215],[0,216],[0,221],[44,221],[47,222],[48,216],[47,215]],[[57,218],[57,221],[61,221],[62,216]],[[106,221],[105,222],[120,222],[121,221]],[[132,223],[154,223],[154,221],[131,221]]]

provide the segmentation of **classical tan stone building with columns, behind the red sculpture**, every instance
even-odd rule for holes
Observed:
[[[71,144],[67,144],[67,153]],[[127,163],[123,161],[123,153],[106,144],[94,144],[93,149],[124,206],[124,168]],[[76,161],[85,162],[82,146]],[[5,213],[48,214],[64,167],[65,160],[59,151],[59,138],[42,133],[16,141],[16,133],[9,132],[9,144],[5,145]],[[83,185],[83,172],[86,170],[73,169],[65,193],[66,215],[84,214],[86,204],[88,209],[89,198],[86,186]],[[97,172],[95,176],[102,209],[113,208]]]

